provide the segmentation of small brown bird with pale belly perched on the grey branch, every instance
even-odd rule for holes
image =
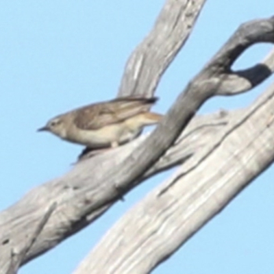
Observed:
[[[55,116],[38,132],[48,131],[90,149],[117,147],[136,138],[142,127],[160,121],[162,114],[149,112],[155,101],[155,97],[121,97],[93,103]]]

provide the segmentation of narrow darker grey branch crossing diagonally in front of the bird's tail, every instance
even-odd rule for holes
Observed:
[[[232,74],[229,73],[230,66],[245,49],[256,42],[262,41],[274,42],[274,17],[260,21],[251,21],[239,27],[221,51],[216,54],[212,61],[179,95],[151,136],[142,145],[134,149],[123,164],[115,166],[99,179],[98,184],[101,186],[105,184],[106,186],[100,197],[95,197],[94,193],[87,192],[87,201],[92,201],[90,206],[86,208],[87,212],[105,206],[105,202],[112,202],[121,195],[121,192],[129,190],[132,184],[138,181],[142,174],[150,166],[153,166],[165,151],[169,149],[190,119],[208,98],[214,95],[226,94],[227,86],[232,88],[232,90],[242,91],[242,86],[239,86],[242,82],[237,82],[235,88],[233,86],[235,84],[234,79],[229,82]],[[225,53],[226,50],[228,53]],[[258,67],[256,71],[262,73],[265,79],[272,71],[271,68],[263,66],[264,69],[262,71]],[[268,71],[267,74],[265,73],[266,70]],[[242,75],[243,77],[244,75]],[[248,78],[245,78],[245,80],[249,81]]]

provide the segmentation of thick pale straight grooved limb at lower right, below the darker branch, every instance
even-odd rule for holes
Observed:
[[[130,209],[74,274],[150,273],[274,160],[274,84]]]

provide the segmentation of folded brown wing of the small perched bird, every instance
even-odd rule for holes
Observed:
[[[121,97],[79,108],[75,125],[80,129],[99,129],[105,125],[121,123],[130,117],[146,112],[158,98]]]

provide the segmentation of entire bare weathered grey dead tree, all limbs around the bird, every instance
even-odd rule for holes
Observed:
[[[119,96],[153,95],[204,2],[166,1],[151,33],[127,62]],[[69,173],[1,212],[0,273],[16,273],[18,266],[95,221],[147,177],[180,165],[110,230],[75,273],[132,273],[132,267],[134,273],[148,273],[175,252],[273,162],[273,86],[246,110],[195,116],[208,98],[245,92],[273,73],[274,51],[250,69],[232,71],[238,56],[257,42],[274,42],[273,17],[240,26],[152,134],[77,162]],[[176,233],[171,236],[171,231]]]

